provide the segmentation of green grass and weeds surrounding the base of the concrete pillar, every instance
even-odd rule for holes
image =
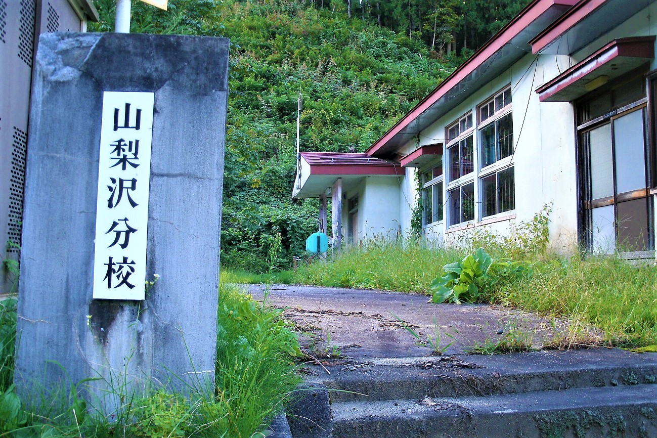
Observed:
[[[87,412],[77,395],[84,382],[49,399],[30,400],[26,410],[11,385],[15,300],[3,301],[0,437],[252,437],[300,381],[292,362],[300,354],[298,342],[281,311],[240,294],[235,286],[220,286],[219,295],[215,386],[189,388],[182,395],[153,383],[137,396],[112,388],[122,395],[122,406],[110,417]]]

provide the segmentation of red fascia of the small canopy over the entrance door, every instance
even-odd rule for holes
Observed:
[[[539,93],[539,100],[543,102],[549,99],[559,91],[562,91],[562,89],[579,81],[581,77],[590,74],[604,64],[608,64],[612,60],[618,58],[618,56],[632,56],[646,59],[654,58],[654,41],[654,36],[614,39],[614,41],[611,41],[595,51],[593,55],[581,60],[559,76],[555,77],[555,79],[538,87],[536,93]]]

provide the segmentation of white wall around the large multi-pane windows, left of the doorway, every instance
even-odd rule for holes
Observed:
[[[457,242],[464,234],[476,227],[485,227],[494,234],[504,234],[514,223],[529,221],[541,211],[545,204],[552,203],[550,235],[551,243],[557,250],[574,248],[577,241],[576,209],[576,161],[574,135],[574,109],[564,102],[540,103],[535,89],[557,76],[570,66],[570,57],[555,55],[526,55],[509,70],[487,83],[473,93],[462,104],[445,116],[436,120],[420,133],[419,145],[445,143],[445,127],[472,111],[476,115],[478,105],[491,98],[504,87],[512,87],[512,118],[515,152],[512,156],[515,179],[514,211],[499,213],[482,221],[480,206],[480,181],[474,173],[474,197],[477,201],[475,220],[455,227],[447,227],[447,221],[424,229],[425,234],[434,239],[443,238],[447,242]],[[476,123],[476,117],[475,122]],[[474,154],[480,156],[478,130],[474,131]],[[405,146],[403,152],[415,149]],[[443,156],[443,175],[447,173],[447,154]],[[479,158],[477,158],[479,163]],[[414,169],[408,169],[406,179],[413,181],[404,186],[405,198],[417,202]],[[467,178],[466,178],[467,179]],[[449,215],[447,190],[455,186],[443,184],[445,218]],[[401,202],[400,202],[401,204]],[[407,207],[402,206],[402,209]],[[410,215],[408,226],[410,227]],[[406,218],[406,216],[405,216]],[[495,222],[495,220],[498,220]],[[406,219],[405,219],[406,220]],[[404,223],[406,225],[406,223]]]

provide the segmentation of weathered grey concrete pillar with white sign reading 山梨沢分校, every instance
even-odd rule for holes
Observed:
[[[18,295],[22,392],[100,378],[84,387],[111,412],[120,401],[110,385],[214,380],[228,46],[41,35]]]

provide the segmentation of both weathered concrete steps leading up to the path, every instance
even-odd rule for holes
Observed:
[[[655,354],[539,351],[310,368],[288,415],[294,438],[657,437]],[[418,403],[425,397],[431,406]]]

